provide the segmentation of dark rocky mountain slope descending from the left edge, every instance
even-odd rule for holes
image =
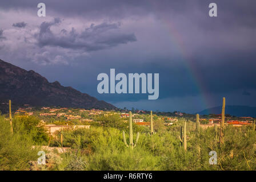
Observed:
[[[33,70],[26,71],[0,60],[0,103],[14,105],[61,106],[85,109],[116,109],[105,101],[81,93],[58,81],[49,82]]]

